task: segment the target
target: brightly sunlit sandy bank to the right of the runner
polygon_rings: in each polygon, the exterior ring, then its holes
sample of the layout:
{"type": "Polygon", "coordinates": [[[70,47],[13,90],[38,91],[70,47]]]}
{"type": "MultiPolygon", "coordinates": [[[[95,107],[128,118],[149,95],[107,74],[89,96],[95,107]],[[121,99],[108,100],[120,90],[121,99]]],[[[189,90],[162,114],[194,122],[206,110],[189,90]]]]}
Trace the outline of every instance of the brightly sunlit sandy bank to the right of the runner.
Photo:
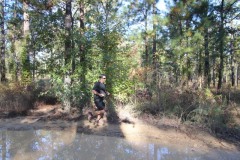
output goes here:
{"type": "MultiPolygon", "coordinates": [[[[132,108],[132,107],[127,107],[132,108]]],[[[234,144],[227,143],[217,139],[207,132],[185,128],[185,133],[180,132],[177,127],[154,126],[145,123],[142,120],[134,118],[131,111],[124,108],[118,110],[119,117],[128,119],[130,123],[121,123],[120,129],[128,141],[158,142],[163,145],[174,145],[177,148],[189,146],[192,150],[208,151],[209,147],[226,148],[229,150],[238,150],[234,144]]]]}

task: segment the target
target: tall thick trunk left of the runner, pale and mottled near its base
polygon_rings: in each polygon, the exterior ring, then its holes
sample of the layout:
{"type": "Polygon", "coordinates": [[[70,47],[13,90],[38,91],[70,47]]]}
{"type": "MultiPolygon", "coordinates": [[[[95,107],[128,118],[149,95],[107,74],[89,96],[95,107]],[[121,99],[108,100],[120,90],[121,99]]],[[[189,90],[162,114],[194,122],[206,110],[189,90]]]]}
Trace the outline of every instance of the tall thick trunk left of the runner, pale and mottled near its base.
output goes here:
{"type": "Polygon", "coordinates": [[[71,64],[71,55],[72,55],[72,27],[73,27],[73,18],[72,18],[72,0],[66,0],[66,13],[65,13],[65,30],[66,30],[66,38],[65,38],[65,68],[67,69],[64,77],[64,86],[65,86],[65,97],[64,97],[64,110],[66,112],[70,111],[71,108],[71,97],[69,97],[71,92],[71,74],[72,71],[69,68],[71,64]]]}

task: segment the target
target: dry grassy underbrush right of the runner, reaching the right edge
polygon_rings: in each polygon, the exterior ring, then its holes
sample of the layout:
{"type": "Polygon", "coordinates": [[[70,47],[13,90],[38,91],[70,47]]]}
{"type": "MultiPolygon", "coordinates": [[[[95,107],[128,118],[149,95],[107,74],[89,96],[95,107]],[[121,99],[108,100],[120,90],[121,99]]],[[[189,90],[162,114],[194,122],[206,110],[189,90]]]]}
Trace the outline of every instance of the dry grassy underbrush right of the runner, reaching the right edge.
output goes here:
{"type": "MultiPolygon", "coordinates": [[[[140,92],[140,91],[138,91],[140,92]]],[[[142,91],[145,92],[145,91],[142,91]]],[[[208,128],[219,135],[240,139],[239,91],[218,94],[210,89],[191,90],[162,86],[158,91],[136,94],[135,111],[177,119],[184,124],[208,128]],[[148,95],[148,96],[146,96],[148,95]]]]}

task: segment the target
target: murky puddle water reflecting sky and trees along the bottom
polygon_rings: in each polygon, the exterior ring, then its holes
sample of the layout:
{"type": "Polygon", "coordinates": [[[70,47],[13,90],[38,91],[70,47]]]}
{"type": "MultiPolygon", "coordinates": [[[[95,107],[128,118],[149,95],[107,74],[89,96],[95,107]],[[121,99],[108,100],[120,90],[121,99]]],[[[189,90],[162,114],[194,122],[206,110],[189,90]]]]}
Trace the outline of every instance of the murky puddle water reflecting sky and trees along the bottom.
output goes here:
{"type": "Polygon", "coordinates": [[[0,159],[14,160],[173,160],[238,159],[239,153],[212,151],[205,154],[190,148],[142,143],[134,139],[76,134],[66,130],[0,131],[0,159]]]}

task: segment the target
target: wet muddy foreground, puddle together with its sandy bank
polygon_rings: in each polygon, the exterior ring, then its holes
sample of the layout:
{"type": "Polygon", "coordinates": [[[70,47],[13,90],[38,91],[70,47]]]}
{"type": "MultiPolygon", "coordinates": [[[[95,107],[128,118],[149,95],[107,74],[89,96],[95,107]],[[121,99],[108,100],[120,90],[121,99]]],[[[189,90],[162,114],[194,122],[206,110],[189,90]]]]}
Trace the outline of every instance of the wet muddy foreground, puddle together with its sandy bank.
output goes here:
{"type": "Polygon", "coordinates": [[[202,141],[190,139],[140,122],[95,126],[86,120],[2,119],[0,159],[239,159],[234,145],[209,135],[202,137],[202,141]]]}

